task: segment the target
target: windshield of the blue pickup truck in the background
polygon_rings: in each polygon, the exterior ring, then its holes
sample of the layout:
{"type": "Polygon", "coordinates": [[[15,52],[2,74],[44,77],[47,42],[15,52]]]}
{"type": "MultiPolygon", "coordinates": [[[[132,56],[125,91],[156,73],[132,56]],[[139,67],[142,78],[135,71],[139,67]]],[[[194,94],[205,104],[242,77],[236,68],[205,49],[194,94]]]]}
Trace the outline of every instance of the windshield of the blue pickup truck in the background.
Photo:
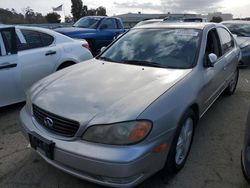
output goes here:
{"type": "Polygon", "coordinates": [[[96,29],[100,20],[101,18],[98,17],[81,18],[73,25],[73,27],[96,29]]]}

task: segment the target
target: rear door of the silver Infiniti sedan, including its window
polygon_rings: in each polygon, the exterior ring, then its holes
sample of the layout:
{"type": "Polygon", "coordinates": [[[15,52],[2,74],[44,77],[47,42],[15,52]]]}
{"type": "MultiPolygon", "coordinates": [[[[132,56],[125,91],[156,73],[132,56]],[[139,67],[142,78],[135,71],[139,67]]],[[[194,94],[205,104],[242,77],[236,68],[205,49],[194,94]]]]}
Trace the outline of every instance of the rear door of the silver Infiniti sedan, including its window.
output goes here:
{"type": "Polygon", "coordinates": [[[240,51],[235,48],[233,36],[223,27],[217,28],[218,35],[222,46],[222,54],[225,59],[224,73],[226,80],[229,82],[236,71],[240,51]]]}

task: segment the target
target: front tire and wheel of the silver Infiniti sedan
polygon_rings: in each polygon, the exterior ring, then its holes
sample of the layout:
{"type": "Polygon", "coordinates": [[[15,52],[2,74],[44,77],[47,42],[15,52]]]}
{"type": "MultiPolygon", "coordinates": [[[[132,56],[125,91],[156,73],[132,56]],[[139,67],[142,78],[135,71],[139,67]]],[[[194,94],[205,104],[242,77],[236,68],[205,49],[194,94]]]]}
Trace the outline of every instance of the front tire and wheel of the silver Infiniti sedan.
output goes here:
{"type": "Polygon", "coordinates": [[[163,169],[164,175],[175,175],[185,165],[193,142],[197,118],[193,110],[187,110],[180,120],[168,158],[163,169]]]}

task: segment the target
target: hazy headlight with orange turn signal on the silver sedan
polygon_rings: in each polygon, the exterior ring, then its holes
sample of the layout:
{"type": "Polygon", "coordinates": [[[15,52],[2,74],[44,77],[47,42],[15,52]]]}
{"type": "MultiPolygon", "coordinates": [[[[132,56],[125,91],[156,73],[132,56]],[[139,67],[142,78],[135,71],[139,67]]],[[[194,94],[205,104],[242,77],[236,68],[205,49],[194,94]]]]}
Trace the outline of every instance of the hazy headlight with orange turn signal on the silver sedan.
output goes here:
{"type": "Polygon", "coordinates": [[[131,121],[109,125],[93,125],[83,134],[82,139],[111,145],[129,145],[142,141],[152,128],[150,121],[131,121]]]}

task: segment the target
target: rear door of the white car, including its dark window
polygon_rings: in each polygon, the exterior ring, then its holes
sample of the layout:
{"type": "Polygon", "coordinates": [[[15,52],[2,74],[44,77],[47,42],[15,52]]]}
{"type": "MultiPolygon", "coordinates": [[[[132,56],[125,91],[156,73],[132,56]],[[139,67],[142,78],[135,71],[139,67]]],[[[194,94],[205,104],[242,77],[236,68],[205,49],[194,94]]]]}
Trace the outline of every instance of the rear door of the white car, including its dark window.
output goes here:
{"type": "Polygon", "coordinates": [[[21,84],[23,90],[55,70],[59,50],[55,38],[32,29],[19,29],[18,58],[21,64],[21,84]]]}

